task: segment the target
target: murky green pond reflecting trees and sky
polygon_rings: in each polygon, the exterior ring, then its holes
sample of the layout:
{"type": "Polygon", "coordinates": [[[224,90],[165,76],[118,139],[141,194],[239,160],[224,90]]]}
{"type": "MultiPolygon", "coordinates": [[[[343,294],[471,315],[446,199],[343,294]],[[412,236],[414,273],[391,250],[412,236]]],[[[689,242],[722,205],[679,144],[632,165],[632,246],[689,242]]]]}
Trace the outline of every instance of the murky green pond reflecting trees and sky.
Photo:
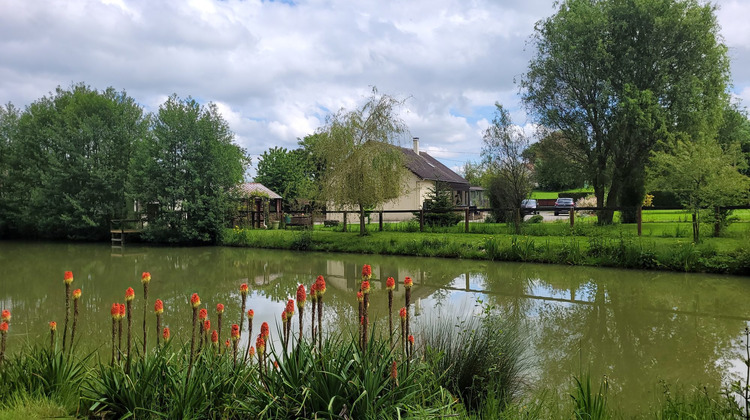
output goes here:
{"type": "MultiPolygon", "coordinates": [[[[300,253],[244,248],[168,248],[107,244],[0,241],[0,308],[13,314],[9,351],[45,343],[48,322],[64,320],[63,272],[81,288],[79,347],[109,355],[110,306],[136,290],[134,336],[143,319],[141,273],[151,273],[147,326],[155,341],[153,302],[164,301],[164,324],[187,341],[198,293],[215,319],[226,305],[224,336],[239,321],[239,285],[250,285],[247,307],[277,331],[279,314],[297,285],[326,278],[325,330],[342,331],[356,319],[355,288],[363,264],[373,268],[371,318],[387,330],[385,279],[399,281],[394,311],[403,305],[405,276],[414,279],[416,324],[437,317],[497,307],[528,337],[530,382],[565,393],[573,374],[607,375],[611,400],[638,412],[669,384],[718,386],[743,373],[742,331],[750,320],[748,278],[625,271],[556,265],[493,263],[433,258],[300,253]]],[[[394,314],[397,317],[397,314],[394,314]]],[[[295,315],[295,325],[296,325],[295,315]]],[[[397,319],[397,318],[395,318],[397,319]]],[[[293,326],[292,331],[297,327],[293,326]]],[[[243,334],[243,345],[247,334],[243,334]]]]}

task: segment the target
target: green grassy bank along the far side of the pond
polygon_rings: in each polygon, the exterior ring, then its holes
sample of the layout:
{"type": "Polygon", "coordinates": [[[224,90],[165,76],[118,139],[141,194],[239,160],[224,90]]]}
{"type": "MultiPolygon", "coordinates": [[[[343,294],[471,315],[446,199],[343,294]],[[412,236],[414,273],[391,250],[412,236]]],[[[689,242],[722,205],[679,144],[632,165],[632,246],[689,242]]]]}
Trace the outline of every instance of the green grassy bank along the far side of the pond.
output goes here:
{"type": "Polygon", "coordinates": [[[374,225],[364,237],[330,228],[235,228],[226,230],[224,244],[750,275],[750,242],[743,232],[732,237],[706,238],[695,245],[683,236],[637,237],[630,232],[635,229],[630,225],[600,227],[580,223],[570,228],[565,223],[530,224],[524,227],[524,235],[505,233],[508,228],[504,225],[485,223],[472,224],[472,232],[477,233],[468,234],[459,233],[458,228],[411,232],[410,223],[399,225],[405,231],[378,232],[374,225]]]}

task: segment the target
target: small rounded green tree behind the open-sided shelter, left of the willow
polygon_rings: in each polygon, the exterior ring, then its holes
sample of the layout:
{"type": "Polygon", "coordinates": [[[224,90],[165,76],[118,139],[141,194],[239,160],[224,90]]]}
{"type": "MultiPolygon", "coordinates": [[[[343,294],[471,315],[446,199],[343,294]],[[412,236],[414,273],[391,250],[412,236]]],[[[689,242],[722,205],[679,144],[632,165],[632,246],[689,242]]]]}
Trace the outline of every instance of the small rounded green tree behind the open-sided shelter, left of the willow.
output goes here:
{"type": "Polygon", "coordinates": [[[285,206],[299,198],[312,198],[312,165],[302,149],[272,147],[258,160],[255,181],[284,197],[285,206]]]}

